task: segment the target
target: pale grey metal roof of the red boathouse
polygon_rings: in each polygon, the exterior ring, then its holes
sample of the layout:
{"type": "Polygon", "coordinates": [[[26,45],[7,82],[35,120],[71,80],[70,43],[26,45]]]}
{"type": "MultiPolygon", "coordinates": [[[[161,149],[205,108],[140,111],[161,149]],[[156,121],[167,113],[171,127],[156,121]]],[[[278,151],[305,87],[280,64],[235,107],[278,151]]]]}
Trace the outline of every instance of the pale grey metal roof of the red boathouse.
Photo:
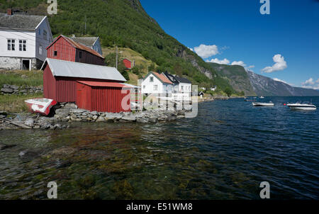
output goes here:
{"type": "Polygon", "coordinates": [[[51,72],[55,77],[79,77],[126,81],[115,67],[47,58],[41,69],[45,68],[45,64],[50,66],[51,72]]]}

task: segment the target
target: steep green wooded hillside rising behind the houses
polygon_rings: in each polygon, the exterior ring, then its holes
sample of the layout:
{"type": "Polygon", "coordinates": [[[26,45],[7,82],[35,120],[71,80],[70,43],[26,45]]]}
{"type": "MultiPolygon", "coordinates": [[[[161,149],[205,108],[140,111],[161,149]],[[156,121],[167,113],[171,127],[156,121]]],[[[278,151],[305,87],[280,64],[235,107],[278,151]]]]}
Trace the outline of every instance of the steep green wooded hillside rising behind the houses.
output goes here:
{"type": "MultiPolygon", "coordinates": [[[[0,10],[11,7],[29,14],[46,15],[44,0],[0,0],[0,10]]],[[[231,86],[201,57],[179,43],[147,15],[138,0],[57,0],[58,14],[49,16],[52,33],[98,35],[103,47],[128,47],[161,72],[179,74],[199,86],[231,86]],[[84,28],[86,22],[86,29],[84,28]]]]}

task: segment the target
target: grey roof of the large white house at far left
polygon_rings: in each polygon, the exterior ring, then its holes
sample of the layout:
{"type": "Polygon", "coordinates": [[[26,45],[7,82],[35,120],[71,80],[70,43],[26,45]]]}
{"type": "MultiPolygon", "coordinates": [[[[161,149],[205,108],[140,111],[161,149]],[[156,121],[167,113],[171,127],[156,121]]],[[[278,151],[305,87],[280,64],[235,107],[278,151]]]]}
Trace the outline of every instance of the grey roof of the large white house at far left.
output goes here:
{"type": "Polygon", "coordinates": [[[6,13],[0,13],[0,28],[35,30],[38,24],[43,21],[43,18],[45,18],[45,16],[28,16],[22,14],[8,16],[6,13]]]}

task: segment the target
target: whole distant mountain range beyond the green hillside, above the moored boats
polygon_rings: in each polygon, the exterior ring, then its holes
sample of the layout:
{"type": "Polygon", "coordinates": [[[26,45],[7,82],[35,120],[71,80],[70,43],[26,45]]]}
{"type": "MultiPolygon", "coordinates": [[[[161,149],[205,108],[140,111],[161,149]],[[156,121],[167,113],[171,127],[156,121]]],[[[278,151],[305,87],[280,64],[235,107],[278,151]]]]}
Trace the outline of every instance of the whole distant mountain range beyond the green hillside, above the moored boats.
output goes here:
{"type": "Polygon", "coordinates": [[[293,87],[282,81],[247,72],[240,65],[207,63],[227,79],[233,89],[244,91],[245,96],[319,96],[318,90],[293,87]]]}

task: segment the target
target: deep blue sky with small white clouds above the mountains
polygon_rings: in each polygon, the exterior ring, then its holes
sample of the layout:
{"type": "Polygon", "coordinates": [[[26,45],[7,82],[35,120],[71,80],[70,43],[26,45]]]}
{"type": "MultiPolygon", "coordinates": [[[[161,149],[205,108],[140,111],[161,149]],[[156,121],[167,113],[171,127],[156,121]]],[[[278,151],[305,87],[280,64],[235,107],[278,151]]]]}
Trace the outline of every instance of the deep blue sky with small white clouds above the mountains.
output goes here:
{"type": "Polygon", "coordinates": [[[244,64],[257,74],[319,89],[317,0],[269,0],[269,15],[259,12],[260,0],[140,1],[166,33],[205,61],[244,64]]]}

